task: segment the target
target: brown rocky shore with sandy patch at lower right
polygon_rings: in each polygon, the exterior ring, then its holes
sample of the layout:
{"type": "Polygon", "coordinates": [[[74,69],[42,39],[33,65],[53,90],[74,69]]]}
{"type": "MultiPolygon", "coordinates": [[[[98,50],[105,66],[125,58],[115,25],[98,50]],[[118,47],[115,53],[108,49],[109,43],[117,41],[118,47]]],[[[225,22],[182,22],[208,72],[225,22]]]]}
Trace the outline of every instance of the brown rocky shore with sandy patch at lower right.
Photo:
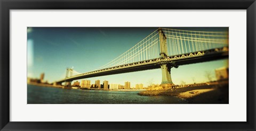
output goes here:
{"type": "Polygon", "coordinates": [[[138,95],[167,95],[186,99],[188,103],[228,103],[228,84],[204,85],[187,88],[147,90],[138,95]]]}

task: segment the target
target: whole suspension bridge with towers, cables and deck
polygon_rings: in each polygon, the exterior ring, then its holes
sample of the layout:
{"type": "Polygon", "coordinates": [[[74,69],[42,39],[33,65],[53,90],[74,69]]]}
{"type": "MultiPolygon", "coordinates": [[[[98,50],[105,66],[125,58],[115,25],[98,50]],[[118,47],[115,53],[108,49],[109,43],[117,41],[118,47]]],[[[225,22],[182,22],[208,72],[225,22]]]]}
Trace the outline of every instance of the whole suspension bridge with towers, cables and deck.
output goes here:
{"type": "Polygon", "coordinates": [[[228,58],[228,36],[228,31],[158,28],[125,53],[94,71],[78,73],[73,68],[67,68],[66,77],[55,84],[66,82],[70,85],[72,81],[82,78],[161,68],[161,84],[171,86],[172,67],[228,58]]]}

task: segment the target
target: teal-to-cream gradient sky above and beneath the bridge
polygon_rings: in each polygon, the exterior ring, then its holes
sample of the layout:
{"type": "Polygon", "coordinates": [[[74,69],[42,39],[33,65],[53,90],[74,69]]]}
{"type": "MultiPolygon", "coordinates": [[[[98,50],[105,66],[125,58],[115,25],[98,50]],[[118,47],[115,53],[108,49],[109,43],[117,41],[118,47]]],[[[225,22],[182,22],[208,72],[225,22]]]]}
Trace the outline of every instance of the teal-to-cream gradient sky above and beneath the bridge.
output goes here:
{"type": "MultiPolygon", "coordinates": [[[[157,30],[155,28],[104,28],[104,27],[28,27],[27,29],[27,76],[54,82],[65,78],[66,69],[74,68],[79,73],[93,71],[107,64],[139,41],[157,30]]],[[[227,31],[228,28],[171,28],[194,31],[227,31]]],[[[215,60],[171,69],[174,84],[206,82],[205,72],[227,66],[228,60],[215,60]]],[[[130,81],[131,86],[142,83],[161,84],[160,68],[140,72],[86,78],[94,84],[95,80],[122,84],[130,81]]],[[[81,80],[78,80],[81,81],[81,80]]]]}

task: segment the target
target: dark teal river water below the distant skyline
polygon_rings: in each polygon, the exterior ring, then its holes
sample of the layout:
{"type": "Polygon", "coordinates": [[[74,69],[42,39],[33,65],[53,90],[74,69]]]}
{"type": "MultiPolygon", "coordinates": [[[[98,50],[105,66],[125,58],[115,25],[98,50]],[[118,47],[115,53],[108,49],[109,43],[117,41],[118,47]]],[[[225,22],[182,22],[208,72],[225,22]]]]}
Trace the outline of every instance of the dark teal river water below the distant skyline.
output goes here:
{"type": "Polygon", "coordinates": [[[172,96],[140,96],[139,91],[99,91],[28,85],[28,104],[177,104],[187,101],[172,96]]]}

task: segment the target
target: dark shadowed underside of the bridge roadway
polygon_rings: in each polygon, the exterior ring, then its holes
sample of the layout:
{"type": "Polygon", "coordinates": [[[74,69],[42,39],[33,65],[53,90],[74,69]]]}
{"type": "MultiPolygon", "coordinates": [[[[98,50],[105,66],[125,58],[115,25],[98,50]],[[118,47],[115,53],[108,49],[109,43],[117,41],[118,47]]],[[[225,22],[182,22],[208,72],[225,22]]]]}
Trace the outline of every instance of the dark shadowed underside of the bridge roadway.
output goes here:
{"type": "MultiPolygon", "coordinates": [[[[225,58],[228,58],[228,51],[222,51],[220,53],[207,54],[207,55],[202,55],[202,56],[197,56],[197,57],[189,57],[189,58],[183,58],[183,59],[170,60],[170,62],[171,61],[175,62],[176,65],[180,66],[180,65],[187,65],[187,64],[209,62],[212,60],[225,59],[225,58]]],[[[126,67],[126,68],[105,71],[105,72],[99,72],[99,73],[94,73],[94,74],[81,75],[81,76],[77,76],[77,77],[73,77],[73,78],[67,78],[66,80],[57,81],[57,83],[60,84],[62,82],[70,82],[70,81],[79,80],[82,78],[90,78],[90,77],[114,75],[114,74],[121,74],[121,73],[128,73],[128,72],[145,71],[147,69],[156,69],[156,68],[160,68],[160,67],[161,66],[156,63],[140,65],[140,66],[131,66],[131,67],[126,67]]]]}

